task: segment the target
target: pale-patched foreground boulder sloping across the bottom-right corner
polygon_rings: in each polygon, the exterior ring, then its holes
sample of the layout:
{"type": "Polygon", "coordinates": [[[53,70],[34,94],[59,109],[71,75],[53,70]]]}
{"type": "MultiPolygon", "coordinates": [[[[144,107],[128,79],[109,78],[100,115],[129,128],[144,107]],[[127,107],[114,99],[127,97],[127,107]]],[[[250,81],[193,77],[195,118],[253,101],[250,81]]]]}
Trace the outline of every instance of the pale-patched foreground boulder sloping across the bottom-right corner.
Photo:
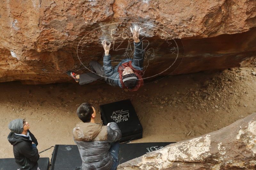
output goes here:
{"type": "Polygon", "coordinates": [[[255,156],[256,113],[252,113],[218,131],[168,145],[117,169],[255,169],[255,156]]]}

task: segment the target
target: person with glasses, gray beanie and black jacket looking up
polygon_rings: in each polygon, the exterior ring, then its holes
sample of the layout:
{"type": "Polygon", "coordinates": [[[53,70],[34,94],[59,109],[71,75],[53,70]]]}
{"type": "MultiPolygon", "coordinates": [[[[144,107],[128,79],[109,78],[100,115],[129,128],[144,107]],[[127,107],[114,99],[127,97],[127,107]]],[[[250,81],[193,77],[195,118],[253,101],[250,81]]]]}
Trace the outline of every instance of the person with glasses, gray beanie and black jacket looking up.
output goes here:
{"type": "Polygon", "coordinates": [[[28,130],[30,125],[24,119],[15,119],[8,124],[11,130],[7,139],[13,145],[15,162],[20,170],[37,170],[39,153],[35,136],[28,130]]]}

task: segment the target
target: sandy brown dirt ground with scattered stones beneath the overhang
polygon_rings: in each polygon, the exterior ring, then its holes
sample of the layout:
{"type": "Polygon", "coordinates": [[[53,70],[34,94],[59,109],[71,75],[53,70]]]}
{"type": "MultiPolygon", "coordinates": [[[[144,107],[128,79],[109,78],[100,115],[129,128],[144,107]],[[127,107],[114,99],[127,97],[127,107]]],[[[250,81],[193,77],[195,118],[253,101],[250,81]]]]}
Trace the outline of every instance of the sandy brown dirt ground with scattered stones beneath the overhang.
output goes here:
{"type": "MultiPolygon", "coordinates": [[[[256,111],[256,67],[232,68],[165,77],[125,92],[105,83],[22,85],[0,83],[0,158],[13,158],[8,123],[25,118],[39,143],[39,152],[56,144],[75,145],[72,129],[84,102],[100,104],[131,99],[143,127],[137,142],[176,142],[223,128],[256,111]],[[189,135],[188,135],[189,134],[189,135]]],[[[53,148],[40,154],[52,157],[53,148]]]]}

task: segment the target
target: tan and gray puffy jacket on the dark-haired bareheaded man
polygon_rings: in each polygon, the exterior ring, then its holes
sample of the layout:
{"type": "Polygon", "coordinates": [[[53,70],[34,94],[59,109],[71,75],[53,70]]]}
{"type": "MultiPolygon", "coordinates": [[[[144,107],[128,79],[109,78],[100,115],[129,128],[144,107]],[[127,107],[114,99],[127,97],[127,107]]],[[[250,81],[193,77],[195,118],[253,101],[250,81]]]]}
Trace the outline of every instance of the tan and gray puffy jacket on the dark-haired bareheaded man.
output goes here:
{"type": "Polygon", "coordinates": [[[113,157],[109,153],[110,143],[121,139],[121,131],[117,124],[109,126],[95,123],[78,123],[73,129],[74,141],[83,161],[83,170],[109,170],[113,157]]]}

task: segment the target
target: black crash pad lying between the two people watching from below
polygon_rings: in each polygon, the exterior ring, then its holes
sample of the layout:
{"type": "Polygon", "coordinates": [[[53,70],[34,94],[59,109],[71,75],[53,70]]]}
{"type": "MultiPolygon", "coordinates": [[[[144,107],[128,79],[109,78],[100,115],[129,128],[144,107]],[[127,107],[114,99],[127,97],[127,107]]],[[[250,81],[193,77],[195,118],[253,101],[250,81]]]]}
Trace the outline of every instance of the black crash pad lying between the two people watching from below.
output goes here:
{"type": "Polygon", "coordinates": [[[74,170],[82,165],[77,145],[55,145],[50,170],[74,170]]]}

